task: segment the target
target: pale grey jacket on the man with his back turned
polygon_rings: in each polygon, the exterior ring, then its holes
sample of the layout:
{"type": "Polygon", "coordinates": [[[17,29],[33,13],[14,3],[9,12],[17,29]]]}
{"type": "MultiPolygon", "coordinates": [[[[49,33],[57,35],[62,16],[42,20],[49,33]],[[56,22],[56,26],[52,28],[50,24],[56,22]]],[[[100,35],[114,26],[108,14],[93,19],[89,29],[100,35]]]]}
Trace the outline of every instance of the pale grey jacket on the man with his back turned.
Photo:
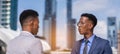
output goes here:
{"type": "Polygon", "coordinates": [[[6,54],[42,54],[42,51],[40,39],[35,38],[30,32],[22,31],[8,43],[6,54]]]}

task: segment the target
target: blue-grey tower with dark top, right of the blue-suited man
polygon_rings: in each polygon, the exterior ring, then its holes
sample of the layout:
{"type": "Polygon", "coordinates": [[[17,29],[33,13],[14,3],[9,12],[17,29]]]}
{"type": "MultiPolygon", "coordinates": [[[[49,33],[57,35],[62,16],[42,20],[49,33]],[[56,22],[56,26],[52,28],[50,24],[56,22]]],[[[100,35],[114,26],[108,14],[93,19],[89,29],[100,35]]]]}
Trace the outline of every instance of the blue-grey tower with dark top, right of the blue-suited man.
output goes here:
{"type": "Polygon", "coordinates": [[[110,42],[111,47],[117,48],[117,25],[116,25],[116,17],[108,17],[107,21],[108,27],[108,40],[110,42]]]}

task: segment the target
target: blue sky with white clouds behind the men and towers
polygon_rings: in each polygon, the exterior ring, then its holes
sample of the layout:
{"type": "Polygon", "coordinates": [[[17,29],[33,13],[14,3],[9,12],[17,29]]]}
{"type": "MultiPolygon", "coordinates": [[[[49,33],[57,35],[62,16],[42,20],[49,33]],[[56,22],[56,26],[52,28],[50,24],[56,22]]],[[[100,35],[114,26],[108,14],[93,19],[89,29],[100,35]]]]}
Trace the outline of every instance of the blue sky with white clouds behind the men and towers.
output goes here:
{"type": "MultiPolygon", "coordinates": [[[[67,39],[66,25],[66,2],[67,0],[57,0],[57,46],[61,46],[67,39]]],[[[92,13],[98,19],[98,24],[94,29],[94,34],[107,39],[107,17],[116,17],[117,24],[120,21],[120,0],[72,0],[72,18],[79,21],[82,13],[92,13]]],[[[38,35],[42,36],[42,22],[45,12],[45,0],[18,0],[18,18],[25,9],[33,9],[39,13],[40,29],[38,35]]],[[[118,26],[118,25],[117,25],[118,26]]],[[[21,29],[19,21],[18,28],[21,29]]],[[[76,26],[77,40],[83,36],[79,34],[76,26]]],[[[66,47],[66,45],[62,45],[66,47]]]]}

